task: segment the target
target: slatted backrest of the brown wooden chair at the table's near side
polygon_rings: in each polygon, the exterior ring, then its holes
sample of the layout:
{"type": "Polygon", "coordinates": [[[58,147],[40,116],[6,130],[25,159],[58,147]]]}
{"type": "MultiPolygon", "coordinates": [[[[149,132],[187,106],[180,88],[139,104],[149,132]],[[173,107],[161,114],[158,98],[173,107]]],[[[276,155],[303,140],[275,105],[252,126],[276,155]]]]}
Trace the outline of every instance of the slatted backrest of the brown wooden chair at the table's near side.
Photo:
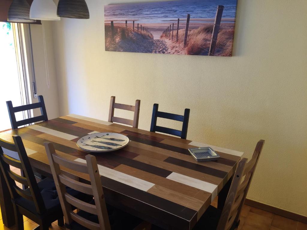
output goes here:
{"type": "Polygon", "coordinates": [[[80,163],[65,159],[56,154],[52,143],[45,142],[45,148],[54,182],[56,184],[56,190],[58,192],[60,203],[63,209],[66,227],[70,228],[70,225],[74,220],[78,224],[81,224],[82,226],[91,230],[111,229],[95,156],[87,155],[85,157],[87,163],[80,163]],[[79,182],[63,174],[63,172],[60,170],[60,166],[66,167],[76,172],[89,174],[91,185],[79,182]],[[66,192],[65,186],[94,196],[95,204],[89,204],[71,196],[66,192]],[[71,205],[87,213],[97,215],[99,224],[87,220],[74,213],[72,211],[71,205]]]}

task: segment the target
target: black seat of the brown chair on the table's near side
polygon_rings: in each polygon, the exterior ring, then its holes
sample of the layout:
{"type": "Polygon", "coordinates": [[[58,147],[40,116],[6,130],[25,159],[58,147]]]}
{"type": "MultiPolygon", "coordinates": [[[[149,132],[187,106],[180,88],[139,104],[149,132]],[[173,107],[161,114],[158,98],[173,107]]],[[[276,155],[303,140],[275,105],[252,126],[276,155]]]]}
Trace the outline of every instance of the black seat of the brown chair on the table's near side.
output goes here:
{"type": "MultiPolygon", "coordinates": [[[[91,201],[90,204],[95,205],[95,201],[91,201]]],[[[108,216],[110,220],[110,225],[112,230],[129,230],[129,229],[134,229],[137,227],[139,224],[142,223],[143,220],[134,217],[130,215],[129,213],[123,212],[119,209],[116,209],[110,205],[107,205],[107,211],[108,211],[108,216]]],[[[77,213],[81,217],[90,220],[95,223],[99,223],[98,216],[87,213],[85,211],[80,211],[77,213]]],[[[87,230],[88,228],[85,228],[84,226],[78,224],[77,222],[73,221],[71,224],[72,230],[87,230]]]]}

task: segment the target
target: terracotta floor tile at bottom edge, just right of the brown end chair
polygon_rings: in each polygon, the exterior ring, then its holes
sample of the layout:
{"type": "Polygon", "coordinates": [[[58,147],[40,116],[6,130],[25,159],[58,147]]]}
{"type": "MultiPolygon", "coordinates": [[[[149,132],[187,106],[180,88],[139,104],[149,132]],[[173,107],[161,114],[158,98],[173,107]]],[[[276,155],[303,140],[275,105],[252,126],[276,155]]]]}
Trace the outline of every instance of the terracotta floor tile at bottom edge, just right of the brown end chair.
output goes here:
{"type": "Polygon", "coordinates": [[[269,230],[271,222],[272,219],[268,217],[249,212],[245,219],[243,229],[269,230]]]}

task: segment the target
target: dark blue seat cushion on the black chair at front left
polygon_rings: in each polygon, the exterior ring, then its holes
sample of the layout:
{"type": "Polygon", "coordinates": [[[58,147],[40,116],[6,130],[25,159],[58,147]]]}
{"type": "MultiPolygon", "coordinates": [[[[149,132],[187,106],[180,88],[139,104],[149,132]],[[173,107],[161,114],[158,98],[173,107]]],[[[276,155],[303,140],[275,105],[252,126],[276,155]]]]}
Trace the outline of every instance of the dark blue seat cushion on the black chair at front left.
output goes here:
{"type": "MultiPolygon", "coordinates": [[[[44,214],[48,215],[48,213],[54,213],[54,212],[62,213],[60,200],[59,200],[59,197],[56,191],[56,185],[54,181],[50,178],[45,178],[41,182],[38,182],[37,185],[41,192],[41,196],[43,197],[45,207],[46,207],[46,213],[44,214]]],[[[30,194],[29,188],[26,190],[29,191],[29,194],[30,194]]],[[[90,199],[90,197],[88,197],[86,194],[81,193],[79,191],[73,190],[68,187],[66,187],[66,190],[70,195],[80,200],[89,201],[90,199]]],[[[15,199],[15,202],[17,205],[25,209],[28,209],[30,212],[37,213],[37,210],[35,208],[33,201],[27,200],[23,197],[18,197],[17,199],[15,199]]]]}

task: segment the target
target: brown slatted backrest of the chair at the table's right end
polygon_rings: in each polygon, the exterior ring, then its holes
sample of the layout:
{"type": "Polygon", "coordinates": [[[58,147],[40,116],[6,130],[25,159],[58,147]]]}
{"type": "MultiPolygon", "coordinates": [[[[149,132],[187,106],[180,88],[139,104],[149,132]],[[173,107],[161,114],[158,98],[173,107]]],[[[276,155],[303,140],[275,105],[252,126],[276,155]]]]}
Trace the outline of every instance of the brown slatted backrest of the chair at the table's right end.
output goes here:
{"type": "Polygon", "coordinates": [[[247,159],[243,158],[239,162],[217,230],[229,230],[234,222],[238,223],[263,145],[264,140],[260,140],[256,145],[252,159],[247,162],[247,159]]]}

